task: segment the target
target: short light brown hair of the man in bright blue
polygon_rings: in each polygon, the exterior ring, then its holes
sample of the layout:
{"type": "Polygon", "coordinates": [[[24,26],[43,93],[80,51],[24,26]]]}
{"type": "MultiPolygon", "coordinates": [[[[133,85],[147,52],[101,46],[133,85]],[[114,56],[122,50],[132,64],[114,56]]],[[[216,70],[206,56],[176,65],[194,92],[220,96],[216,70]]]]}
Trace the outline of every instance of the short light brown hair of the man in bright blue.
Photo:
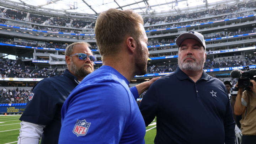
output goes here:
{"type": "Polygon", "coordinates": [[[142,37],[143,18],[133,10],[109,9],[101,12],[95,24],[95,37],[102,57],[119,52],[127,36],[138,42],[142,37]]]}

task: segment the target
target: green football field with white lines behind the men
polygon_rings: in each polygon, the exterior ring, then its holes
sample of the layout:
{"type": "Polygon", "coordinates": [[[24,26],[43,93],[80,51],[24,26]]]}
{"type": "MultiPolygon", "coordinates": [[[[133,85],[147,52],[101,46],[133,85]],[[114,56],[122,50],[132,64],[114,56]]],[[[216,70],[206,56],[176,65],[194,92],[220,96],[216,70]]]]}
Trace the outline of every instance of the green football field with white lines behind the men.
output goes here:
{"type": "MultiPolygon", "coordinates": [[[[0,144],[15,144],[17,143],[20,121],[20,115],[0,115],[0,144]]],[[[154,144],[156,135],[156,121],[151,123],[151,126],[146,127],[145,143],[154,144]]]]}

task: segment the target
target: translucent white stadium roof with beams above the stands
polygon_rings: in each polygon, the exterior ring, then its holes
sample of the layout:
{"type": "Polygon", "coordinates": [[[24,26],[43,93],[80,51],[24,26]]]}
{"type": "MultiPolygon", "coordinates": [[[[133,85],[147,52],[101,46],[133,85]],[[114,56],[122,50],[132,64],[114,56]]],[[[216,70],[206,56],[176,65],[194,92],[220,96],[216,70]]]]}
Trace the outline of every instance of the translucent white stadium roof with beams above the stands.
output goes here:
{"type": "MultiPolygon", "coordinates": [[[[215,3],[223,0],[4,0],[34,9],[51,9],[81,14],[99,14],[110,8],[133,9],[138,13],[162,12],[215,3]]],[[[235,0],[234,0],[235,1],[235,0]]]]}

